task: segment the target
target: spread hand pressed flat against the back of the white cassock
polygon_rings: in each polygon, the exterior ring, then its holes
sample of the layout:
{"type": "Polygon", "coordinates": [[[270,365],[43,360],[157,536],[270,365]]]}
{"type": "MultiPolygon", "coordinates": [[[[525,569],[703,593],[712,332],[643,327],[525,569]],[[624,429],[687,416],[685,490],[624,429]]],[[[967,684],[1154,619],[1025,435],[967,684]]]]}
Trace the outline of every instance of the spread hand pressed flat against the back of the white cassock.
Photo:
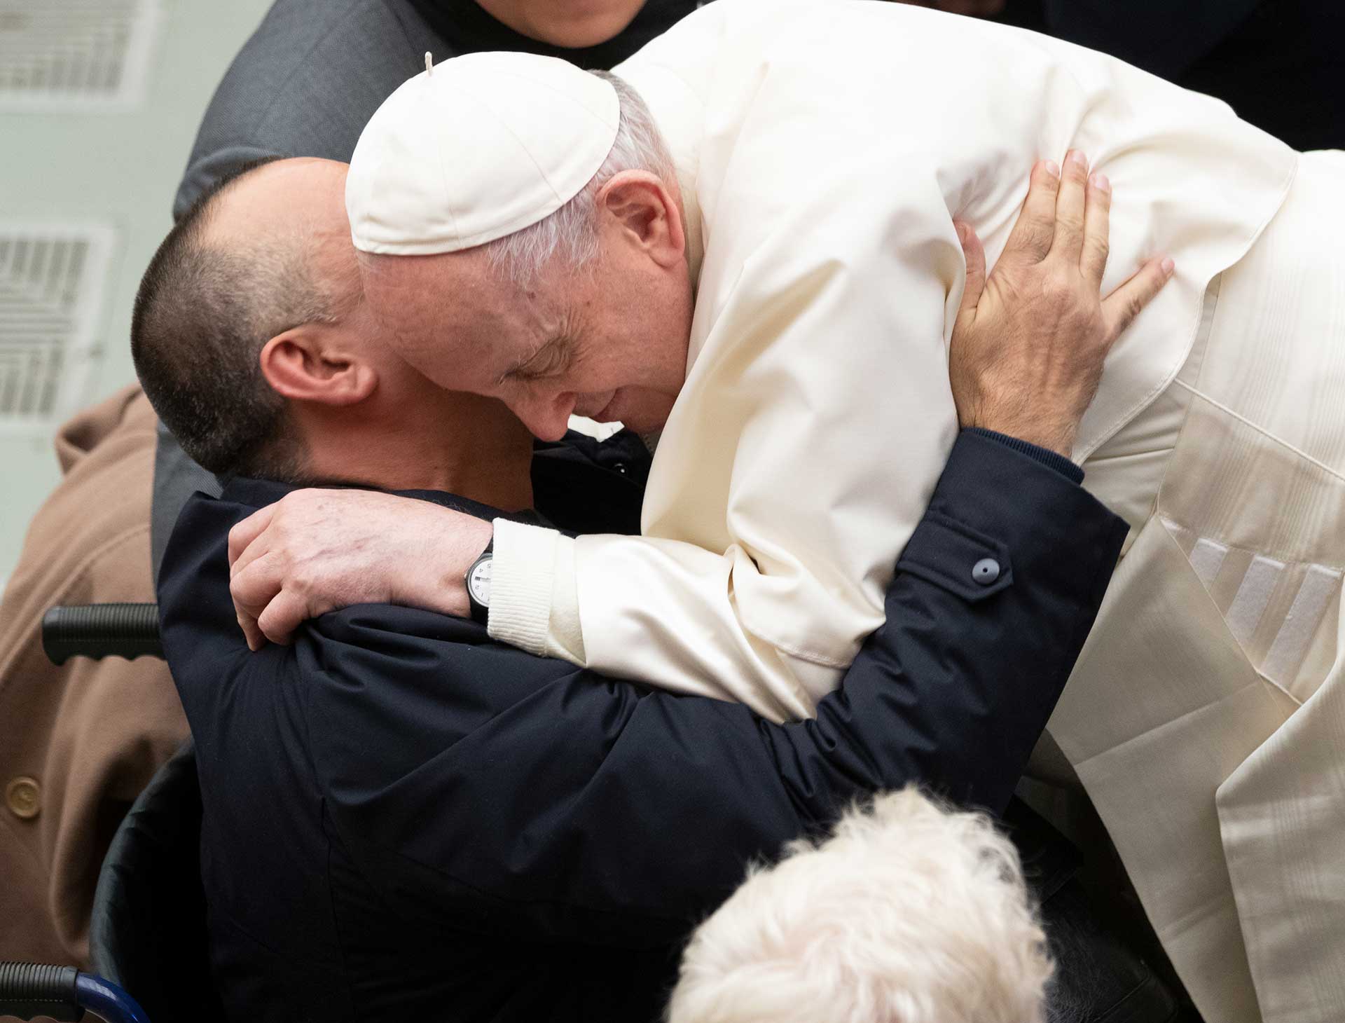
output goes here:
{"type": "Polygon", "coordinates": [[[986,253],[958,223],[967,289],[948,376],[958,419],[1069,458],[1103,361],[1162,291],[1173,262],[1153,258],[1102,299],[1111,186],[1075,151],[1063,172],[1038,163],[1009,244],[986,279],[986,253]]]}

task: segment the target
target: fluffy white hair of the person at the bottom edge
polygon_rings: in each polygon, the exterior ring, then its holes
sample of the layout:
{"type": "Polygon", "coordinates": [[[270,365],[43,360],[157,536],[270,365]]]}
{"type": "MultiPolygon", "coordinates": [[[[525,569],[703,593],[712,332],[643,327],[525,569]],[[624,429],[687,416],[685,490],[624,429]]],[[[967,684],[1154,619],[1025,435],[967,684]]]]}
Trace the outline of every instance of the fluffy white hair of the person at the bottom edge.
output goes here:
{"type": "Polygon", "coordinates": [[[1040,1023],[1050,973],[1013,844],[907,787],[753,868],[691,937],[667,1023],[1040,1023]]]}

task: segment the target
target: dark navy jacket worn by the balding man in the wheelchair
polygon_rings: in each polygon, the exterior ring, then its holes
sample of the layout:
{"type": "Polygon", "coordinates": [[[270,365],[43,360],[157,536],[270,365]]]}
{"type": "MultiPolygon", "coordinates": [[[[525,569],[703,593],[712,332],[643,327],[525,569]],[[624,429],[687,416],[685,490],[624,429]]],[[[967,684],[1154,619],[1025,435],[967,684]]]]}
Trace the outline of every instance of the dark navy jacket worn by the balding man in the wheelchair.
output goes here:
{"type": "MultiPolygon", "coordinates": [[[[751,860],[912,781],[1005,806],[1126,533],[1061,474],[964,433],[886,625],[816,720],[773,726],[405,607],[250,654],[227,533],[288,490],[192,498],[160,576],[237,1020],[656,1019],[679,942],[751,860]],[[971,579],[982,557],[1002,565],[991,587],[971,579]]],[[[539,509],[574,518],[546,490],[539,509]]]]}

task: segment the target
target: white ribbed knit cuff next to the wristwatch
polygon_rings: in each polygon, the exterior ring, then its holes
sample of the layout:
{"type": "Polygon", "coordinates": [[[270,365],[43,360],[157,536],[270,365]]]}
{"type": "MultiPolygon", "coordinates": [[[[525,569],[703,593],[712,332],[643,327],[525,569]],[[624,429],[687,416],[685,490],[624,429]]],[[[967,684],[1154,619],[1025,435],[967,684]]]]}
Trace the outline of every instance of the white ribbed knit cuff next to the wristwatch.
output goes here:
{"type": "MultiPolygon", "coordinates": [[[[495,557],[491,564],[491,639],[542,656],[551,621],[555,573],[554,529],[495,520],[495,557]]],[[[573,541],[569,541],[573,542],[573,541]]]]}

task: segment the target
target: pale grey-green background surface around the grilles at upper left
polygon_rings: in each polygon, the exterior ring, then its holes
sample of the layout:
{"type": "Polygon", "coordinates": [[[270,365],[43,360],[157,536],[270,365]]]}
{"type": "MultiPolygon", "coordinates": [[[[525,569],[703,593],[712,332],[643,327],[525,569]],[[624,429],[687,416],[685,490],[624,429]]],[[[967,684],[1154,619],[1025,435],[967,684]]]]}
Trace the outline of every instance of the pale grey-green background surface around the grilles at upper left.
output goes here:
{"type": "MultiPolygon", "coordinates": [[[[44,5],[55,0],[0,0],[0,44],[44,5]]],[[[75,407],[134,380],[128,338],[136,285],[172,225],[172,197],[206,104],[269,5],[156,0],[160,16],[141,100],[98,113],[0,112],[0,223],[102,222],[112,229],[112,257],[91,311],[94,353],[75,407]]],[[[4,330],[0,324],[0,346],[4,330]]],[[[28,521],[59,481],[52,433],[50,427],[0,431],[0,586],[17,561],[28,521]]]]}

